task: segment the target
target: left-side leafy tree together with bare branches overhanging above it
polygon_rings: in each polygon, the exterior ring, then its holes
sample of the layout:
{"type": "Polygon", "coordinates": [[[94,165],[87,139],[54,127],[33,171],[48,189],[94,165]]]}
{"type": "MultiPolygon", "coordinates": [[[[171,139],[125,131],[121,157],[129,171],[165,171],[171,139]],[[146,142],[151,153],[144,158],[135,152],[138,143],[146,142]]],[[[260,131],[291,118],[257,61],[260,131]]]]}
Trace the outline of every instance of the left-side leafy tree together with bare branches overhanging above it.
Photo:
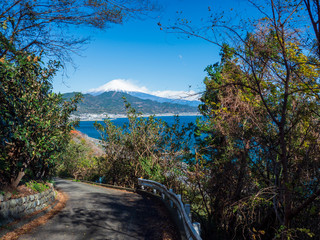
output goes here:
{"type": "Polygon", "coordinates": [[[65,101],[51,81],[86,38],[70,26],[99,29],[153,9],[143,0],[0,2],[0,188],[50,177],[65,152],[80,96],[65,101]]]}

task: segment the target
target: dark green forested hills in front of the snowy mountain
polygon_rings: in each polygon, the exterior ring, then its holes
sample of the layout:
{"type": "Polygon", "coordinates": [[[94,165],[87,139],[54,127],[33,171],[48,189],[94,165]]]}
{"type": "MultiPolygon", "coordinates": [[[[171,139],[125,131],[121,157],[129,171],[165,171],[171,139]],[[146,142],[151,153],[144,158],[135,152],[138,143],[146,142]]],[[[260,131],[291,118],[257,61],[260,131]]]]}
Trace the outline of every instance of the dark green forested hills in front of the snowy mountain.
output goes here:
{"type": "MultiPolygon", "coordinates": [[[[69,99],[76,93],[65,93],[63,97],[69,99]]],[[[181,114],[181,113],[196,113],[196,107],[175,104],[175,103],[160,103],[148,99],[141,99],[131,96],[123,92],[104,92],[100,95],[93,96],[91,94],[84,94],[83,101],[78,105],[76,114],[125,114],[125,106],[122,97],[137,111],[143,114],[181,114]]]]}

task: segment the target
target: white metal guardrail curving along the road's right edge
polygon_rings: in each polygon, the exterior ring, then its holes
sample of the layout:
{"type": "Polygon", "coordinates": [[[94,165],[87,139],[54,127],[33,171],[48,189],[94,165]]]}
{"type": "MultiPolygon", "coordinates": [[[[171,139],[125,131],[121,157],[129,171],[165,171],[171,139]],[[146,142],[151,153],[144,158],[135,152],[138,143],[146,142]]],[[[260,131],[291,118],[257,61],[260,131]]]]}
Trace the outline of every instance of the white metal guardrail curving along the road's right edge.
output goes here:
{"type": "Polygon", "coordinates": [[[144,190],[144,187],[150,187],[153,189],[153,193],[156,194],[157,191],[161,193],[163,200],[168,200],[170,207],[177,209],[179,219],[183,222],[184,231],[188,240],[202,240],[200,237],[200,223],[191,222],[190,204],[183,204],[181,201],[181,195],[175,194],[172,189],[168,190],[164,185],[152,181],[139,178],[138,184],[144,190]]]}

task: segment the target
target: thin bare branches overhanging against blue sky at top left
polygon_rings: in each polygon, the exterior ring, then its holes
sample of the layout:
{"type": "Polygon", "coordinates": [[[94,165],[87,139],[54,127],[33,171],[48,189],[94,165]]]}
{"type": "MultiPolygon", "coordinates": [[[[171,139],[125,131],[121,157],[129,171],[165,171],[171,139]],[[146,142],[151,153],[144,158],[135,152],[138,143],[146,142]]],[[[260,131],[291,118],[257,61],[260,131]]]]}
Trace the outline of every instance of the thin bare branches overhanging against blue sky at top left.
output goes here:
{"type": "Polygon", "coordinates": [[[149,0],[4,0],[0,9],[0,58],[44,51],[49,57],[69,60],[69,53],[77,53],[88,39],[75,38],[68,27],[104,29],[141,16],[154,5],[149,0]]]}

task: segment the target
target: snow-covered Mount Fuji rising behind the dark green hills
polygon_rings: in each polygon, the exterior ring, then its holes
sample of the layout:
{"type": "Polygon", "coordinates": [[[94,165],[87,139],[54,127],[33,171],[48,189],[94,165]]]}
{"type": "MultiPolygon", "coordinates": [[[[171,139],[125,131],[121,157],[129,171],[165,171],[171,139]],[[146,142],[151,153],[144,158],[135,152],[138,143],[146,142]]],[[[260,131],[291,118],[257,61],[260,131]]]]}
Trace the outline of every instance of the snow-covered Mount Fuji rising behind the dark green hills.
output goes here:
{"type": "Polygon", "coordinates": [[[126,79],[112,80],[98,88],[90,89],[85,93],[98,96],[105,92],[121,92],[143,100],[182,104],[192,107],[197,107],[200,103],[199,94],[194,91],[149,91],[146,87],[139,87],[126,79]]]}

